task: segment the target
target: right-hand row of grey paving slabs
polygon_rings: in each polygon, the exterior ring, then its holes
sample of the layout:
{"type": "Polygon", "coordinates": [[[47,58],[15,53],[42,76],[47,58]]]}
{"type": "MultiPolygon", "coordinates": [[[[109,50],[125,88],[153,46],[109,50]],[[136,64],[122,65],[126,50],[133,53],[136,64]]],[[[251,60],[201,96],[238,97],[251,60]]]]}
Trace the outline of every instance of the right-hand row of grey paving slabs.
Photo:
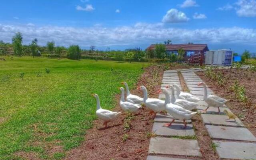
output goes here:
{"type": "MultiPolygon", "coordinates": [[[[200,98],[204,95],[203,88],[200,88],[192,83],[194,80],[203,82],[199,76],[195,74],[198,70],[190,69],[189,71],[181,71],[186,84],[191,94],[194,94],[200,98]]],[[[208,93],[213,94],[210,88],[207,88],[208,93]]],[[[198,106],[198,110],[206,109],[207,104],[204,103],[198,106]]],[[[231,112],[227,106],[220,108],[220,114],[218,114],[218,108],[210,107],[205,114],[201,114],[203,123],[216,144],[216,151],[220,158],[232,158],[232,159],[256,159],[256,138],[255,136],[245,128],[244,124],[236,118],[234,120],[227,120],[228,116],[223,110],[226,109],[231,112]]]]}

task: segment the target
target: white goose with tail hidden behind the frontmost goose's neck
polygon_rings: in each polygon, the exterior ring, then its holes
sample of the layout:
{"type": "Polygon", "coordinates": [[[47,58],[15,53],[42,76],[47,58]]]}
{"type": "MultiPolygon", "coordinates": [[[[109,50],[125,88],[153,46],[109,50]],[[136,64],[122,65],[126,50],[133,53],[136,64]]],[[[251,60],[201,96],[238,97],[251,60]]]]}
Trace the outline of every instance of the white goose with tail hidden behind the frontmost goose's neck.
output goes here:
{"type": "Polygon", "coordinates": [[[152,110],[155,113],[159,113],[165,110],[164,101],[157,99],[157,98],[148,98],[148,90],[145,86],[140,86],[137,89],[143,91],[144,98],[143,102],[145,103],[146,107],[152,110]]]}

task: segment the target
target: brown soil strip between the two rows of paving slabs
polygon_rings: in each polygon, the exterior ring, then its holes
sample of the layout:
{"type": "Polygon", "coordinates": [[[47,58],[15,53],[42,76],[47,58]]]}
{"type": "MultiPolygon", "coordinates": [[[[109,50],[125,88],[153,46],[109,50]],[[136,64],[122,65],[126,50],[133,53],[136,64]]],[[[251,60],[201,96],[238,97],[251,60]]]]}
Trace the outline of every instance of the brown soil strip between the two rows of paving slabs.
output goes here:
{"type": "MultiPolygon", "coordinates": [[[[178,72],[178,76],[183,92],[189,92],[188,86],[186,85],[186,81],[184,80],[181,72],[178,72]]],[[[202,122],[201,116],[196,115],[191,120],[196,133],[196,140],[198,141],[198,144],[200,146],[202,160],[220,160],[218,154],[213,150],[211,146],[212,140],[202,122]]]]}

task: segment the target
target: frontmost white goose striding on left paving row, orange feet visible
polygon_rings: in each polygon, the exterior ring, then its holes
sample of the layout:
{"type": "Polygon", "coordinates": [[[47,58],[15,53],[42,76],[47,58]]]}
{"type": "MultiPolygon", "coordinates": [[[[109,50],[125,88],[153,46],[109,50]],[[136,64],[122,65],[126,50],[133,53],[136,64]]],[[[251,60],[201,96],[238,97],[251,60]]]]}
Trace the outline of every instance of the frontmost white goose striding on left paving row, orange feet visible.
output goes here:
{"type": "MultiPolygon", "coordinates": [[[[170,95],[166,89],[162,89],[162,92],[165,94],[166,100],[170,100],[170,95]]],[[[172,123],[175,120],[183,120],[184,122],[184,128],[187,127],[186,120],[190,120],[192,116],[196,114],[196,112],[191,112],[189,110],[186,110],[185,108],[182,108],[179,105],[173,104],[173,103],[167,103],[165,106],[165,110],[172,115],[173,120],[172,122],[165,124],[164,126],[171,126],[172,123]]]]}

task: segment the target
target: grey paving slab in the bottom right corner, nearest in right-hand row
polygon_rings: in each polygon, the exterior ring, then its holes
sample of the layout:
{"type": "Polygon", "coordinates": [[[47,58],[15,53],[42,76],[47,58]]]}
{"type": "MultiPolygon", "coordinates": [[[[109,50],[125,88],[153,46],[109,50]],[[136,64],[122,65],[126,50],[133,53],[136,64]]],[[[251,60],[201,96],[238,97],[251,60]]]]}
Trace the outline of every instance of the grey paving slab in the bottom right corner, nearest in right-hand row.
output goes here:
{"type": "Polygon", "coordinates": [[[220,158],[255,160],[256,144],[244,142],[223,142],[214,140],[219,147],[216,148],[220,158]]]}

